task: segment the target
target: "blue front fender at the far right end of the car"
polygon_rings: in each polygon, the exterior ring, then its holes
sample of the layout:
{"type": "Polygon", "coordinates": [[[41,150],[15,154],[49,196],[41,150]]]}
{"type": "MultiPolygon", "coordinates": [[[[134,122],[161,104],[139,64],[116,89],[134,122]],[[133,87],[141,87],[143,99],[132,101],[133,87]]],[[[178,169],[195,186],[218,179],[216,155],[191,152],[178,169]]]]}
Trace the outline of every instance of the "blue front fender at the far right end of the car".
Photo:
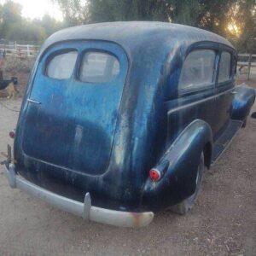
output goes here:
{"type": "Polygon", "coordinates": [[[255,101],[255,90],[247,86],[237,86],[235,91],[231,119],[244,121],[255,101]]]}

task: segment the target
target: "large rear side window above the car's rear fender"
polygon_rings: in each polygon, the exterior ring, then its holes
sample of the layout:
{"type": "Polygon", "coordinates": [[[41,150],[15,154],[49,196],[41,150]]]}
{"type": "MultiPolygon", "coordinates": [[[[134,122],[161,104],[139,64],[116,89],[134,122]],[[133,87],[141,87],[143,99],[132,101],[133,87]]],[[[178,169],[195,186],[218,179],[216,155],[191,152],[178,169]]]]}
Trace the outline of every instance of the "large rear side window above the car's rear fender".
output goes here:
{"type": "Polygon", "coordinates": [[[215,57],[212,49],[192,51],[183,63],[178,90],[183,93],[212,86],[215,57]]]}

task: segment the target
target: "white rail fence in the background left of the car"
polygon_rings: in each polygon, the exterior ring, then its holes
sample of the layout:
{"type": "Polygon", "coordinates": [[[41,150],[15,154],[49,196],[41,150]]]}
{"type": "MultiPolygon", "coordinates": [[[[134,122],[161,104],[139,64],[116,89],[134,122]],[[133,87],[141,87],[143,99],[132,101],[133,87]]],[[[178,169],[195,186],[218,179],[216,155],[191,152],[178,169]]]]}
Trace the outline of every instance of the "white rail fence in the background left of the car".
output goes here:
{"type": "Polygon", "coordinates": [[[39,49],[39,45],[32,44],[0,44],[0,50],[3,51],[5,55],[16,57],[35,57],[38,55],[39,49]]]}

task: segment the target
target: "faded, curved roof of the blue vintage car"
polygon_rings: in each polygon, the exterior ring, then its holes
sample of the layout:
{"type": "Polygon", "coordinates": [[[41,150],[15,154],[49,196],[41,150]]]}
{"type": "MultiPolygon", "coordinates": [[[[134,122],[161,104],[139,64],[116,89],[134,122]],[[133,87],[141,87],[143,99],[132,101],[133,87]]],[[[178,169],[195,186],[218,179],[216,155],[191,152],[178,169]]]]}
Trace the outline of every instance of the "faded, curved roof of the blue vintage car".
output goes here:
{"type": "Polygon", "coordinates": [[[42,51],[52,44],[70,40],[111,41],[121,45],[127,52],[145,47],[152,41],[159,45],[175,41],[187,46],[211,41],[234,48],[225,38],[192,26],[155,21],[119,21],[74,26],[55,32],[45,41],[42,51]]]}

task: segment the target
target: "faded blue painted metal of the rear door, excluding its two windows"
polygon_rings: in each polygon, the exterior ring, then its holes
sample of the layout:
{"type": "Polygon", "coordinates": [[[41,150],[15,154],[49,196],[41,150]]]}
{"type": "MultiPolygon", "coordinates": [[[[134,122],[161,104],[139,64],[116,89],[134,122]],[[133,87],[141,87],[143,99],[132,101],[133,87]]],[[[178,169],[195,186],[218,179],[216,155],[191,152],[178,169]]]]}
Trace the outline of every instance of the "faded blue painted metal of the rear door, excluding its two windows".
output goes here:
{"type": "Polygon", "coordinates": [[[30,93],[30,98],[41,104],[26,106],[22,137],[30,139],[23,140],[24,154],[74,172],[106,172],[127,70],[125,52],[116,44],[69,42],[48,49],[39,62],[30,93]],[[45,63],[60,49],[78,51],[78,63],[70,79],[45,75],[45,63]],[[84,83],[77,78],[80,58],[91,49],[118,56],[121,71],[111,84],[84,83]]]}

